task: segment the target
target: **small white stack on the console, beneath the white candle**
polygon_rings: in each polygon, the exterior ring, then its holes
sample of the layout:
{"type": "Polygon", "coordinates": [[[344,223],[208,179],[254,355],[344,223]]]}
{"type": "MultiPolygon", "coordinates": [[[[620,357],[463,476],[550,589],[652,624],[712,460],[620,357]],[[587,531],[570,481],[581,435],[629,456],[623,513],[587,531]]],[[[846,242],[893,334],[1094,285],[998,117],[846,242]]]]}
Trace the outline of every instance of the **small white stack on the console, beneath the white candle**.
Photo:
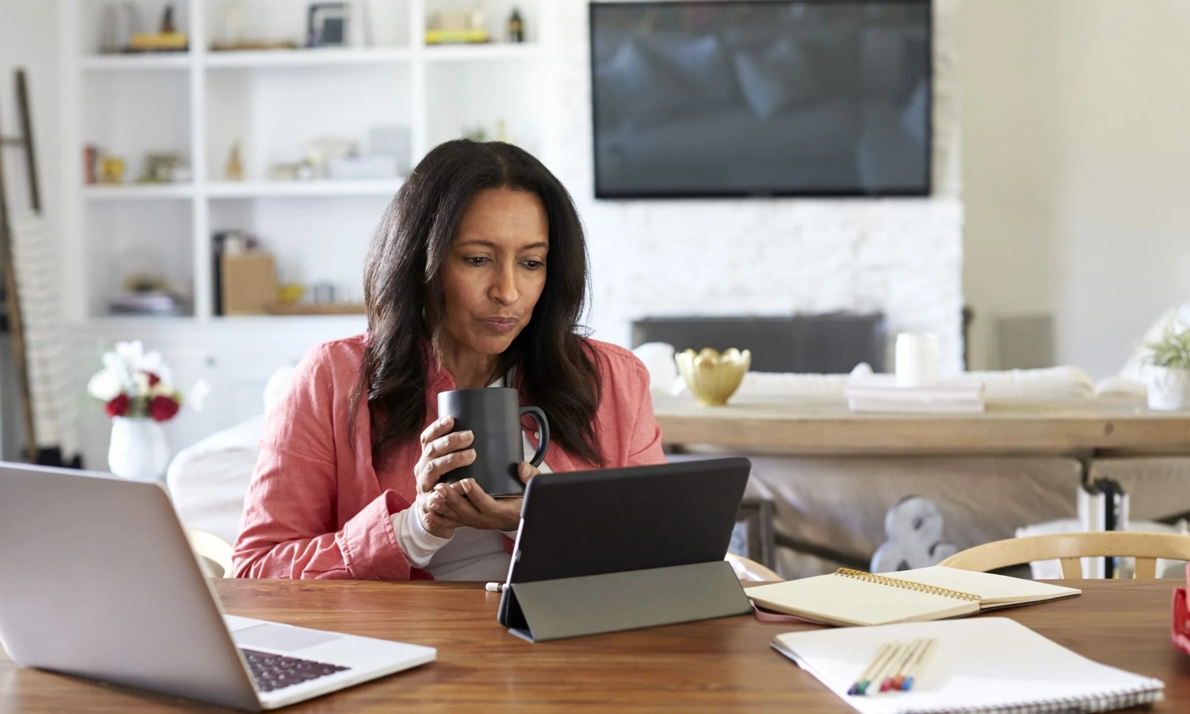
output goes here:
{"type": "Polygon", "coordinates": [[[983,382],[950,377],[925,387],[898,387],[895,375],[856,375],[844,392],[852,412],[966,414],[983,412],[983,382]]]}

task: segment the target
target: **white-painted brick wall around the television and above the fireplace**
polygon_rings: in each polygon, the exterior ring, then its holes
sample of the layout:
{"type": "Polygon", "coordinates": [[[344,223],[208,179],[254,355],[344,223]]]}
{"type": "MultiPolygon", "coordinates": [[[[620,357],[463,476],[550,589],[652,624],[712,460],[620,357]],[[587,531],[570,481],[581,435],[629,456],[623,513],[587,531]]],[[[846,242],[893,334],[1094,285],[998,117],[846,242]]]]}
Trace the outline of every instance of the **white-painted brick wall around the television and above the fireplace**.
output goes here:
{"type": "Polygon", "coordinates": [[[544,158],[587,224],[596,337],[625,344],[644,315],[883,311],[890,334],[937,332],[959,369],[958,0],[935,0],[933,198],[716,201],[593,199],[588,2],[544,1],[558,127],[544,158]]]}

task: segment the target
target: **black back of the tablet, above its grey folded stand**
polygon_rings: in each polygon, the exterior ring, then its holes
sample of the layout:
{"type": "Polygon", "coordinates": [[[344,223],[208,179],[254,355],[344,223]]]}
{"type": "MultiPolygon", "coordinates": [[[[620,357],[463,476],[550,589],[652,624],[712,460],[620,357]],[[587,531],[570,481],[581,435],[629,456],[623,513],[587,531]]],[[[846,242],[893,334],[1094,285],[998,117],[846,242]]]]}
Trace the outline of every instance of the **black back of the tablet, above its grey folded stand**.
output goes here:
{"type": "MultiPolygon", "coordinates": [[[[536,476],[508,583],[722,560],[751,468],[731,457],[536,476]]],[[[509,601],[506,589],[497,619],[520,626],[509,601]]]]}

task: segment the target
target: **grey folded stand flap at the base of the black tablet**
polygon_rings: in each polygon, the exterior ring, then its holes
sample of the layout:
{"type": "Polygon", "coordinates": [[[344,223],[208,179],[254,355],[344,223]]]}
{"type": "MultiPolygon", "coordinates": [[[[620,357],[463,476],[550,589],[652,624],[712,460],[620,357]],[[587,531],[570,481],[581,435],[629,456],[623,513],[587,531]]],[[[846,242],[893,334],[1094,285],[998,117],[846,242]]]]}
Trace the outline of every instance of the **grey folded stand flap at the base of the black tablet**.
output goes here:
{"type": "Polygon", "coordinates": [[[726,560],[512,583],[509,632],[545,641],[752,612],[726,560]]]}

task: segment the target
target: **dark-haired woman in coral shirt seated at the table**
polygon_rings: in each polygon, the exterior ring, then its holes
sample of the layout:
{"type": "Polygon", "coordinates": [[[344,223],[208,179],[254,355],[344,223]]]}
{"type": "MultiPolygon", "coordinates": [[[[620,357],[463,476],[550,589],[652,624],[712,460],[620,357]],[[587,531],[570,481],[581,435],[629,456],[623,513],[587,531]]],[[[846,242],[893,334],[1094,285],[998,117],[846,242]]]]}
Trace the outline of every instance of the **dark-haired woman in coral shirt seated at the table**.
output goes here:
{"type": "Polygon", "coordinates": [[[574,203],[540,162],[496,142],[431,151],[372,240],[368,332],[312,350],[269,414],[236,575],[503,580],[520,499],[439,484],[475,461],[440,392],[515,387],[550,419],[541,471],[663,463],[644,365],[576,334],[587,277],[574,203]]]}

